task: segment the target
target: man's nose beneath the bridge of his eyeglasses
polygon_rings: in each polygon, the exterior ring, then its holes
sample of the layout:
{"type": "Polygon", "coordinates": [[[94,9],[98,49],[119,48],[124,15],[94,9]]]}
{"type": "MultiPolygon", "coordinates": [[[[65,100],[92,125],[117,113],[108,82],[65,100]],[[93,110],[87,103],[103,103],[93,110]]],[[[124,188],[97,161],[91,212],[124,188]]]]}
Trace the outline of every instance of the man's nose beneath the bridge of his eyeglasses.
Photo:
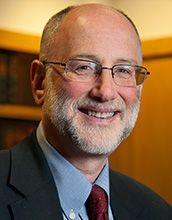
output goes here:
{"type": "Polygon", "coordinates": [[[117,85],[114,83],[110,69],[103,69],[90,92],[91,98],[101,102],[114,100],[118,96],[117,85]]]}

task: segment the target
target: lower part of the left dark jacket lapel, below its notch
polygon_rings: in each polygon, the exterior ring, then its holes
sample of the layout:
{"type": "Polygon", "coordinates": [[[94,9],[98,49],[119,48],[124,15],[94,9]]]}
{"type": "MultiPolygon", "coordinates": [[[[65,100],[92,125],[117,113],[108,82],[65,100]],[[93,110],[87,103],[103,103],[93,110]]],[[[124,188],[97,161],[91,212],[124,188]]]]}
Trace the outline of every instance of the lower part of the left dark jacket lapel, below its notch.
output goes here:
{"type": "Polygon", "coordinates": [[[60,205],[51,184],[44,184],[38,191],[10,205],[16,220],[62,219],[60,205]]]}

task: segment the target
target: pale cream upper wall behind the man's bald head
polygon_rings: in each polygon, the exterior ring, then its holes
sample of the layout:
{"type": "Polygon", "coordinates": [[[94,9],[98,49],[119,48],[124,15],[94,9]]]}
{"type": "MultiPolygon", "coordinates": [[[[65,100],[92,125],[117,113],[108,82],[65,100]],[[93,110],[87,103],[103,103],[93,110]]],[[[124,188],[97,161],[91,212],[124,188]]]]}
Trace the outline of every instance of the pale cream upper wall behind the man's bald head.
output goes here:
{"type": "Polygon", "coordinates": [[[172,36],[171,0],[0,0],[0,29],[40,35],[48,18],[67,5],[100,2],[126,12],[141,38],[172,36]]]}

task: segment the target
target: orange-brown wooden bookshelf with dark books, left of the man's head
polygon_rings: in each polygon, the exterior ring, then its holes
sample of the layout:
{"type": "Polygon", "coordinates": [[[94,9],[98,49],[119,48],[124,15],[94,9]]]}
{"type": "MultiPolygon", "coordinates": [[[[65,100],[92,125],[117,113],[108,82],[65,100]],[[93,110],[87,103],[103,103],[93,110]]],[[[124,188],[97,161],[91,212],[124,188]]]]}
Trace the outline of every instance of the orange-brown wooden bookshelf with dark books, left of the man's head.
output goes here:
{"type": "Polygon", "coordinates": [[[40,37],[0,30],[0,149],[28,135],[41,119],[30,87],[40,37]]]}

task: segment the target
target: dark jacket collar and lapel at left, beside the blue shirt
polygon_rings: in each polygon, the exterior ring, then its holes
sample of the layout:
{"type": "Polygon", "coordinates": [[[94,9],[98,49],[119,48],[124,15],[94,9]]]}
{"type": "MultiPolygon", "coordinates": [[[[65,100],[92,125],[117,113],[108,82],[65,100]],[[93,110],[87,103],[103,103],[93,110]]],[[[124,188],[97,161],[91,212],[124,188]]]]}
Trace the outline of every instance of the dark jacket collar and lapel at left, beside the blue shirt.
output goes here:
{"type": "Polygon", "coordinates": [[[11,151],[9,186],[18,194],[10,204],[14,219],[62,219],[55,183],[34,135],[11,151]]]}

